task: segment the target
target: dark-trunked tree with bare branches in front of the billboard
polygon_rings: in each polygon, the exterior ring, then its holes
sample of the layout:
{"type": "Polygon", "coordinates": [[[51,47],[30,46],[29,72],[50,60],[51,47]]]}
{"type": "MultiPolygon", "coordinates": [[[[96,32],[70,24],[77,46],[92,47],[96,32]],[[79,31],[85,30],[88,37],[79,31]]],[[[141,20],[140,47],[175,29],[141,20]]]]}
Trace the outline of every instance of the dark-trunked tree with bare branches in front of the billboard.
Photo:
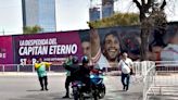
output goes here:
{"type": "Polygon", "coordinates": [[[164,8],[166,0],[158,3],[155,0],[132,0],[139,9],[139,17],[141,23],[141,60],[147,60],[147,51],[149,48],[149,35],[154,27],[165,28],[164,8]],[[140,2],[139,2],[140,1],[140,2]]]}

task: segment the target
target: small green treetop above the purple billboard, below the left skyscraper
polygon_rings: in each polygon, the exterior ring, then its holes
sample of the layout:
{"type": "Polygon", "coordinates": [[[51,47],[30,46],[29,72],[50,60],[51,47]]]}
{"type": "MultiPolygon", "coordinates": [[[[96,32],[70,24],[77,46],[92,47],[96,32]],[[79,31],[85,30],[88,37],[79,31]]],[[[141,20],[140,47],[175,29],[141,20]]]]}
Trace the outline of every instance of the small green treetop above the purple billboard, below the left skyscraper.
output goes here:
{"type": "Polygon", "coordinates": [[[40,33],[42,32],[42,28],[38,25],[35,25],[35,26],[25,26],[23,28],[23,32],[24,34],[37,34],[37,33],[40,33]]]}

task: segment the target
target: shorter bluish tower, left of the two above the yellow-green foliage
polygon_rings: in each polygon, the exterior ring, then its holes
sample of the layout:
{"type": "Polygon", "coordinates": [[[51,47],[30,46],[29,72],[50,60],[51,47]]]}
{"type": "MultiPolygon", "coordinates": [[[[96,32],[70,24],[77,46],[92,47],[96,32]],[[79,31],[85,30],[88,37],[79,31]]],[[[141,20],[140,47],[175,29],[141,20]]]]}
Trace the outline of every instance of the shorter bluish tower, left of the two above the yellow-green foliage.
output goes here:
{"type": "Polygon", "coordinates": [[[90,21],[100,20],[100,8],[90,8],[89,9],[90,21]]]}

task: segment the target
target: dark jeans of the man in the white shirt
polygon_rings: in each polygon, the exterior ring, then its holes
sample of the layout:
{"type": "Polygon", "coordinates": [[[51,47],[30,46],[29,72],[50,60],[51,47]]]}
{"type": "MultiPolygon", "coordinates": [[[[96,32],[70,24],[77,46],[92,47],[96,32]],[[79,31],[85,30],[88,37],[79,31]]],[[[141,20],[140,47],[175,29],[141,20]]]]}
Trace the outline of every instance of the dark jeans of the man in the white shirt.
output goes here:
{"type": "Polygon", "coordinates": [[[123,84],[123,89],[124,90],[128,90],[129,79],[130,79],[130,74],[122,73],[122,84],[123,84]]]}

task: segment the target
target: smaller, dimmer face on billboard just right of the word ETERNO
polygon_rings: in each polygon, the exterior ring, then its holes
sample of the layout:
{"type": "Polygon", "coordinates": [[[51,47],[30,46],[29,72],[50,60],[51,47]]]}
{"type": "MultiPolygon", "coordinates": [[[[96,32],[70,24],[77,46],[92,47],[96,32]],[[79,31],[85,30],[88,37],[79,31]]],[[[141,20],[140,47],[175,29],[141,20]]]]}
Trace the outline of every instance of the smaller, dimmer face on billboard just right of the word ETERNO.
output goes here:
{"type": "Polygon", "coordinates": [[[89,41],[84,41],[81,43],[81,48],[82,48],[84,54],[89,58],[90,57],[90,51],[91,51],[90,42],[89,41]]]}

